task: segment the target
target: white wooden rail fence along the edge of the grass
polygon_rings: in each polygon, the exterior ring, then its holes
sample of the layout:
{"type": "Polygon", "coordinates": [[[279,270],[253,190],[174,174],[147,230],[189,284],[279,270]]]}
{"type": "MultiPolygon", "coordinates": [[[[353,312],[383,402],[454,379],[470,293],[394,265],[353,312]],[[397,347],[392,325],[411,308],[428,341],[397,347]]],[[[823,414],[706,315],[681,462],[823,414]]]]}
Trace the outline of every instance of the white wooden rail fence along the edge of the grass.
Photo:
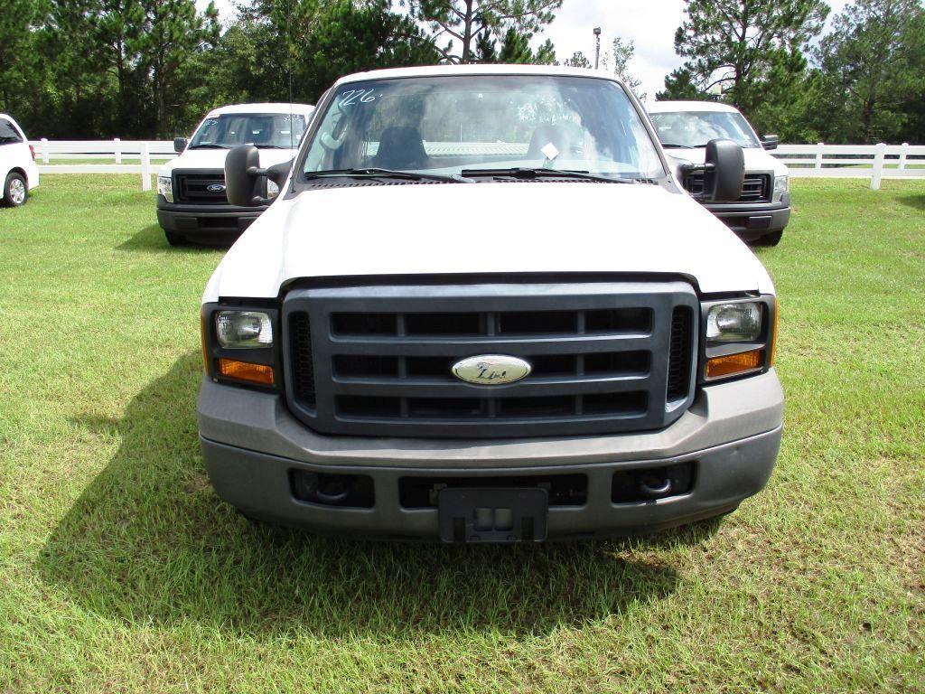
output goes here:
{"type": "MultiPolygon", "coordinates": [[[[86,140],[30,143],[42,173],[133,173],[142,175],[142,191],[151,190],[153,164],[172,159],[172,142],[86,140]],[[55,164],[55,160],[87,160],[86,164],[55,164]],[[111,159],[115,164],[93,164],[111,159]],[[138,163],[127,164],[126,161],[138,163]]],[[[772,155],[783,161],[790,175],[808,178],[870,179],[880,188],[883,179],[925,178],[925,145],[909,144],[782,144],[772,155]]]]}

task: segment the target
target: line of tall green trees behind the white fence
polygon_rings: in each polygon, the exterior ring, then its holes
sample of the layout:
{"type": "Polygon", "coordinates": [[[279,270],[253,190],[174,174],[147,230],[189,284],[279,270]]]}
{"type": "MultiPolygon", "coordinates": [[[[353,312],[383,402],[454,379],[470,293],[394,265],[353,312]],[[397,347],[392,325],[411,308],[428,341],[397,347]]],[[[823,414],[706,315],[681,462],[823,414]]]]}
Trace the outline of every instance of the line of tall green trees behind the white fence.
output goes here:
{"type": "MultiPolygon", "coordinates": [[[[578,2],[580,0],[568,0],[578,2]]],[[[437,63],[558,64],[563,0],[5,0],[0,111],[52,139],[169,138],[216,105],[314,103],[340,75],[437,63]]],[[[787,142],[925,142],[921,0],[685,0],[685,59],[658,98],[717,99],[787,142]]],[[[631,88],[632,42],[602,67],[631,88]]],[[[561,61],[591,67],[582,53],[561,61]]]]}

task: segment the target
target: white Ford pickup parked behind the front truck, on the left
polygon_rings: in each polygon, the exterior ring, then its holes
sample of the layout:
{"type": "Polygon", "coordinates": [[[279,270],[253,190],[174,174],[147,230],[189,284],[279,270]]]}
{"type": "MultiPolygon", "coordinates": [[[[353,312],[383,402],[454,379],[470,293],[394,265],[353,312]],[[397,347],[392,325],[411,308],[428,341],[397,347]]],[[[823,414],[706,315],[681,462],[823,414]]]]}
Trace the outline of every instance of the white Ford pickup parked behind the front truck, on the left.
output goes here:
{"type": "MultiPolygon", "coordinates": [[[[265,205],[241,209],[225,194],[225,155],[240,144],[253,144],[260,162],[290,161],[314,106],[307,104],[237,104],[210,111],[193,132],[179,137],[179,156],[157,173],[157,222],[170,245],[189,241],[224,241],[247,229],[265,205]]],[[[278,192],[267,184],[267,199],[278,192]]]]}

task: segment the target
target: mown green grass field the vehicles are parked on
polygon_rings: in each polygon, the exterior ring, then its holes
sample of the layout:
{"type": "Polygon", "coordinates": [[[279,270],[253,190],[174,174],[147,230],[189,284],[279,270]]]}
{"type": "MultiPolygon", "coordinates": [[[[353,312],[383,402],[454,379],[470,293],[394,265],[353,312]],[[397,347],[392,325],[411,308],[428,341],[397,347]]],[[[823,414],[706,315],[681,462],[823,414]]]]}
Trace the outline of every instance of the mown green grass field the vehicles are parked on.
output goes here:
{"type": "Polygon", "coordinates": [[[721,522],[537,548],[254,527],[137,177],[0,210],[0,692],[925,690],[925,182],[793,182],[783,449],[721,522]],[[88,195],[87,191],[93,194],[88,195]]]}

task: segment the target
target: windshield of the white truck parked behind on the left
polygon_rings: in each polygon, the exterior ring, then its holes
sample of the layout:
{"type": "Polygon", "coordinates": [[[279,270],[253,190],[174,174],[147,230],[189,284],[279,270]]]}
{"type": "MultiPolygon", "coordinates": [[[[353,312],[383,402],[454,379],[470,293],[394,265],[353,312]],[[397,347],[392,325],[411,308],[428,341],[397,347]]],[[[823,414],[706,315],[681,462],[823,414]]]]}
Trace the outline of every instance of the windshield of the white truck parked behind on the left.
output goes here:
{"type": "Polygon", "coordinates": [[[253,144],[264,149],[298,147],[305,132],[305,118],[288,113],[229,113],[206,118],[192,136],[190,149],[253,144]]]}

